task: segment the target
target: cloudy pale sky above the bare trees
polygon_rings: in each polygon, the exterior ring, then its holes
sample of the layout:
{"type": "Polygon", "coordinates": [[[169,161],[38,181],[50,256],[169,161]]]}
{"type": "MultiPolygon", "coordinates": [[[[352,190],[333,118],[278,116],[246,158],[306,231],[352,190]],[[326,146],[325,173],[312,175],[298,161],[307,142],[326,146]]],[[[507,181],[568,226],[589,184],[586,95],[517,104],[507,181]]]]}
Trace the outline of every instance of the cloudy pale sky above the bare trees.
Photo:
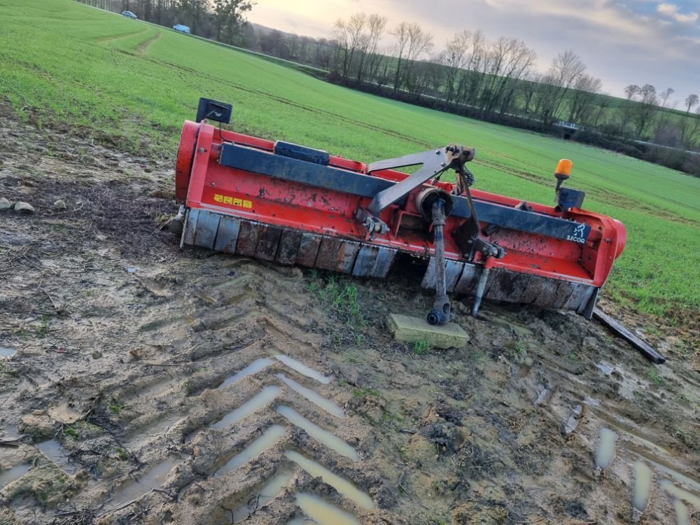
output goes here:
{"type": "Polygon", "coordinates": [[[617,97],[628,84],[673,87],[680,109],[689,93],[700,94],[700,0],[256,0],[248,20],[332,38],[335,20],[358,12],[385,15],[390,28],[419,22],[437,48],[463,29],[522,38],[542,71],[573,49],[617,97]]]}

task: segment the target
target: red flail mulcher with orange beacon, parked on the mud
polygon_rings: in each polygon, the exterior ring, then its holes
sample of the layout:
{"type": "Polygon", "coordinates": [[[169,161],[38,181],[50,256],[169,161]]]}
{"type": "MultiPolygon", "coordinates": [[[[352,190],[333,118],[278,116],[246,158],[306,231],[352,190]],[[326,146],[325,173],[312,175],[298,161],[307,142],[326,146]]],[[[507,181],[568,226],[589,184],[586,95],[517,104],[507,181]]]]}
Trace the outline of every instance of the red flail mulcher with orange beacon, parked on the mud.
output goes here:
{"type": "Polygon", "coordinates": [[[379,278],[407,253],[427,263],[431,324],[449,321],[447,293],[474,295],[472,314],[486,297],[591,318],[624,248],[622,223],[584,211],[584,193],[561,186],[569,160],[559,161],[549,207],[470,190],[473,148],[451,144],[365,164],[222,130],[231,111],[201,99],[197,122],[183,126],[181,245],[379,278]],[[420,167],[410,175],[395,171],[412,166],[420,167]],[[440,181],[448,170],[456,183],[440,181]]]}

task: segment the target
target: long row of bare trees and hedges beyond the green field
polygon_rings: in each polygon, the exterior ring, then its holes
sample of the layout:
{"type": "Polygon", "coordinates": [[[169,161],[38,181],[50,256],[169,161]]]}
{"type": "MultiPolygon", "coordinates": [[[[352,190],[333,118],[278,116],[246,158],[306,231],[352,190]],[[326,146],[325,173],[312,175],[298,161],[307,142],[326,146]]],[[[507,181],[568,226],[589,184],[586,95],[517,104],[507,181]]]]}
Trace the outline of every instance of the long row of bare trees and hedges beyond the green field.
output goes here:
{"type": "Polygon", "coordinates": [[[671,87],[631,84],[624,97],[603,92],[572,50],[547,71],[518,38],[460,31],[435,45],[416,22],[390,26],[382,15],[339,18],[332,38],[311,38],[250,25],[248,0],[79,0],[109,10],[132,10],[159,25],[188,25],[193,34],[323,69],[325,80],[411,104],[524,127],[700,174],[700,104],[682,109],[671,87]],[[656,144],[657,146],[652,145],[656,144]]]}

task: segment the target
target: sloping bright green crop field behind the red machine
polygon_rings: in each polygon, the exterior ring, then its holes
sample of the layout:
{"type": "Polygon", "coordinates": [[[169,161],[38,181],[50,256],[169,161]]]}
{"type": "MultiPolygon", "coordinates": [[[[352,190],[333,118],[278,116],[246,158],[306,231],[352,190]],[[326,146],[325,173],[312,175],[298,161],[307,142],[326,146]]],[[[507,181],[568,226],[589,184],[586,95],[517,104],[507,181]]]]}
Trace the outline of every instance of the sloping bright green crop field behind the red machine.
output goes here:
{"type": "Polygon", "coordinates": [[[700,311],[700,179],[608,151],[409,106],[71,0],[0,0],[0,96],[21,118],[174,158],[200,96],[235,130],[370,161],[474,146],[476,188],[551,203],[559,158],[585,207],[621,220],[627,248],[605,294],[666,316],[700,311]]]}

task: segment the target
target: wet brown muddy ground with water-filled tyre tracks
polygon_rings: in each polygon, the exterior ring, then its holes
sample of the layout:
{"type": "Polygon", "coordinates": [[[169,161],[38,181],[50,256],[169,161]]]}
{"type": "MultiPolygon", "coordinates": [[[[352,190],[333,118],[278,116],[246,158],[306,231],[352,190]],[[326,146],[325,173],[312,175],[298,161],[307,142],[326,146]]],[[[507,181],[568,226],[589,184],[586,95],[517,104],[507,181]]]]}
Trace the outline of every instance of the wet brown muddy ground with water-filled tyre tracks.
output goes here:
{"type": "Polygon", "coordinates": [[[653,366],[575,314],[455,302],[465,347],[399,344],[410,272],[181,251],[169,163],[0,119],[0,197],[35,209],[0,211],[0,524],[700,522],[672,337],[653,366]]]}

